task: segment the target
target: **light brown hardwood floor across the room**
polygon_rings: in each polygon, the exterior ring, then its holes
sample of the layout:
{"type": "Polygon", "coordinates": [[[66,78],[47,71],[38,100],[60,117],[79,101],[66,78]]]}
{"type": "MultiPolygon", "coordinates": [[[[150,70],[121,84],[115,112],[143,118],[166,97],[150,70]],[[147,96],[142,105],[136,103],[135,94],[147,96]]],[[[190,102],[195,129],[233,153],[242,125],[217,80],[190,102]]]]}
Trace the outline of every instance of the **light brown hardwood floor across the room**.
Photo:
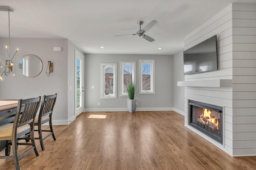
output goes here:
{"type": "MultiPolygon", "coordinates": [[[[256,169],[256,156],[226,154],[186,128],[184,116],[174,111],[87,112],[53,128],[57,140],[44,140],[44,151],[36,140],[40,156],[32,151],[20,159],[22,170],[256,169]]],[[[12,159],[0,160],[0,170],[11,169],[12,159]]]]}

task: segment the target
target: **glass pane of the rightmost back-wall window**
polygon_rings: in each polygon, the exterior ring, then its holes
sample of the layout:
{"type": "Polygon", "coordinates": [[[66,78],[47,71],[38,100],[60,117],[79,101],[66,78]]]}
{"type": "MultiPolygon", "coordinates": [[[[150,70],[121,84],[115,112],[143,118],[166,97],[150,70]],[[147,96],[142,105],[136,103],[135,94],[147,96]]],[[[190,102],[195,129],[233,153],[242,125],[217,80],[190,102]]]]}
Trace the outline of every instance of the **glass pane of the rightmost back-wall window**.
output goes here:
{"type": "Polygon", "coordinates": [[[151,90],[151,63],[142,63],[142,90],[151,90]]]}

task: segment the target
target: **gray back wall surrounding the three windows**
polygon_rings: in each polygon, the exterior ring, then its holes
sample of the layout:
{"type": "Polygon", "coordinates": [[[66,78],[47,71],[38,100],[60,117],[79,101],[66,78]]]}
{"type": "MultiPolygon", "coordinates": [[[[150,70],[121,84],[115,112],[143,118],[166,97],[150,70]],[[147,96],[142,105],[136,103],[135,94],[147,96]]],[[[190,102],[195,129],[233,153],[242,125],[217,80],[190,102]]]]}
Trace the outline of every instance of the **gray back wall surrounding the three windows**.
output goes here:
{"type": "Polygon", "coordinates": [[[127,110],[128,97],[120,97],[120,61],[136,61],[136,81],[139,81],[139,59],[155,59],[155,94],[136,94],[137,108],[173,107],[173,56],[172,55],[85,55],[85,109],[127,110]],[[117,63],[117,99],[100,99],[100,63],[117,63]],[[92,89],[91,86],[95,88],[92,89]],[[100,102],[100,106],[98,106],[100,102]]]}

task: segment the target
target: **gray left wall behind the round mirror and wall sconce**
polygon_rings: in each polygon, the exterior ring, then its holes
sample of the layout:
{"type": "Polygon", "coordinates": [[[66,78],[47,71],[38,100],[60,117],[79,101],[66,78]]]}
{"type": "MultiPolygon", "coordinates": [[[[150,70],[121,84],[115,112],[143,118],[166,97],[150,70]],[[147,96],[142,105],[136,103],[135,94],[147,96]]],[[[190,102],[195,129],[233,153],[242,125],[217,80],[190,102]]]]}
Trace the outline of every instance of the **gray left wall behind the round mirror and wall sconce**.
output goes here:
{"type": "MultiPolygon", "coordinates": [[[[6,56],[5,45],[8,45],[8,38],[0,38],[0,56],[3,60],[6,56]]],[[[14,55],[16,48],[19,49],[13,59],[13,71],[16,75],[3,76],[4,80],[0,81],[0,99],[32,98],[57,93],[53,119],[68,119],[68,40],[11,38],[10,46],[11,56],[14,55]],[[62,51],[55,52],[53,47],[62,47],[62,51]],[[28,54],[37,55],[43,63],[42,72],[34,78],[24,76],[18,69],[20,59],[28,54]],[[45,74],[48,61],[53,63],[53,72],[49,77],[45,74]]]]}

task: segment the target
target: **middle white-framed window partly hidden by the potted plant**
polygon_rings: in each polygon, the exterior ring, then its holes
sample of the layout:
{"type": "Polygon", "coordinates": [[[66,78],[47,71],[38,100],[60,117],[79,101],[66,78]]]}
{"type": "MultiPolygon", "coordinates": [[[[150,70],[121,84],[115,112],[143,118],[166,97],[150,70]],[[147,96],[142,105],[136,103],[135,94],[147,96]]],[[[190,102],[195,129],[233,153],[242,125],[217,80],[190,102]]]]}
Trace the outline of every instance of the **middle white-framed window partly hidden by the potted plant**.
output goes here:
{"type": "Polygon", "coordinates": [[[132,81],[136,83],[136,62],[120,62],[120,96],[127,96],[126,85],[132,81]]]}

